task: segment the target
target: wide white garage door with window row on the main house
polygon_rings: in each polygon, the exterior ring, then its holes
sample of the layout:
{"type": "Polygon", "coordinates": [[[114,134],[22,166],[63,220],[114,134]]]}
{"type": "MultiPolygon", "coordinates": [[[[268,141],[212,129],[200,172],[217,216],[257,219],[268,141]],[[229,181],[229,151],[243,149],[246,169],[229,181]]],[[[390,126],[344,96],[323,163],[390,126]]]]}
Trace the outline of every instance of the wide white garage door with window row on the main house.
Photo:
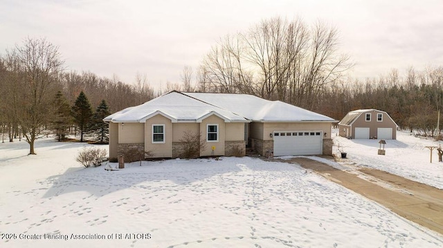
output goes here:
{"type": "Polygon", "coordinates": [[[323,154],[322,131],[274,131],[274,155],[323,154]]]}

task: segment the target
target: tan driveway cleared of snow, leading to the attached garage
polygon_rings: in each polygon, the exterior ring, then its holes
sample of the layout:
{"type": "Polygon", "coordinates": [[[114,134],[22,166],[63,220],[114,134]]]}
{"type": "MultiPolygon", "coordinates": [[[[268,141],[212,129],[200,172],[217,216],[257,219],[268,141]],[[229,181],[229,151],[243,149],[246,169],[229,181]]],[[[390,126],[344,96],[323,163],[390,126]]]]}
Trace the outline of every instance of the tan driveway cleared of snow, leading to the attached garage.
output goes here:
{"type": "Polygon", "coordinates": [[[316,171],[347,189],[379,202],[399,216],[443,234],[443,191],[440,189],[376,169],[361,168],[357,174],[308,158],[284,161],[316,171]]]}

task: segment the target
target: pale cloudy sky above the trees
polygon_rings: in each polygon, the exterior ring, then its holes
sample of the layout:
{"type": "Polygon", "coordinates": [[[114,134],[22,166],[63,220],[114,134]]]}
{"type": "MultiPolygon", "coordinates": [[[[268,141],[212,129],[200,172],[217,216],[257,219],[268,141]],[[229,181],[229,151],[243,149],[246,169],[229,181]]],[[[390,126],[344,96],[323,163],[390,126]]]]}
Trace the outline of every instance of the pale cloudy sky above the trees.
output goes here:
{"type": "Polygon", "coordinates": [[[0,55],[44,37],[67,70],[128,84],[140,73],[159,87],[180,82],[183,67],[197,68],[220,37],[271,17],[336,27],[356,64],[352,77],[443,66],[441,0],[0,0],[0,55]]]}

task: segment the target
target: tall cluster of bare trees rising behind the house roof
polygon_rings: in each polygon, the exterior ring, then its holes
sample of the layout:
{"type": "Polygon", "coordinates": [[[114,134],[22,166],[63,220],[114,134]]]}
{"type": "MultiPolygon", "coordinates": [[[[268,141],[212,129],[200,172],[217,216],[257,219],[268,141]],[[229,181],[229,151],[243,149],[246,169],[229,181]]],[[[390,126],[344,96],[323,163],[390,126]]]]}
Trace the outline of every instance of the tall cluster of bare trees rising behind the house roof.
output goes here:
{"type": "Polygon", "coordinates": [[[322,90],[352,66],[348,60],[338,54],[336,29],[273,18],[221,39],[199,73],[205,74],[205,90],[248,93],[312,109],[322,90]]]}

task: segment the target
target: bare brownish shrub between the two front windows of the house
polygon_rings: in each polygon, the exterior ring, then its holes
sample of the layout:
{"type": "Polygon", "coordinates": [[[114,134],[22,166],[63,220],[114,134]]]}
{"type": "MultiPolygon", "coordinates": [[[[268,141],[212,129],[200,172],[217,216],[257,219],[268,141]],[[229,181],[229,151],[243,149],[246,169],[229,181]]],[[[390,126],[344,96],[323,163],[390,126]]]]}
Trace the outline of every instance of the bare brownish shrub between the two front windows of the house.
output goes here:
{"type": "Polygon", "coordinates": [[[185,131],[180,140],[180,157],[181,158],[199,158],[200,151],[206,148],[206,142],[201,140],[200,133],[192,133],[185,131]]]}

